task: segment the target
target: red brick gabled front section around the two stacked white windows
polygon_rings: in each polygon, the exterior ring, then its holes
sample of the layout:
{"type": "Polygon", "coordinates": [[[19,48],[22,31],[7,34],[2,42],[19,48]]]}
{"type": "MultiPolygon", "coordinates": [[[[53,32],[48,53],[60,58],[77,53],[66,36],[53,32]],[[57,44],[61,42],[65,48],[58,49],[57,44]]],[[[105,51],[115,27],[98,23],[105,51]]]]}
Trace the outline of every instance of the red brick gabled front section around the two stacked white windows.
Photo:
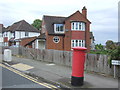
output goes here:
{"type": "Polygon", "coordinates": [[[71,32],[71,21],[83,21],[86,23],[86,28],[85,28],[86,30],[85,30],[85,32],[79,31],[79,38],[80,39],[85,38],[87,51],[89,52],[89,50],[90,50],[90,23],[91,22],[89,22],[86,18],[84,18],[84,16],[79,11],[77,11],[76,13],[71,15],[65,21],[65,29],[68,30],[68,32],[65,33],[65,36],[69,37],[69,38],[66,38],[66,40],[68,41],[68,44],[70,44],[70,45],[68,45],[67,43],[65,43],[66,50],[68,50],[68,48],[69,48],[69,50],[71,50],[71,39],[78,38],[78,33],[75,33],[76,31],[71,32]]]}

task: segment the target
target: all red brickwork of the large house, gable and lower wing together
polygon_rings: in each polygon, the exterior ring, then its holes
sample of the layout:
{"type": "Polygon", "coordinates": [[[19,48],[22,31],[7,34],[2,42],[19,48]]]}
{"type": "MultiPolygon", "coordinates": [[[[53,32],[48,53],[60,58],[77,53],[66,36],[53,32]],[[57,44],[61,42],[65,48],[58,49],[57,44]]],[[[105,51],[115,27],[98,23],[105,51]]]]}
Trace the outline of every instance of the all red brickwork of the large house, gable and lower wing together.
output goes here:
{"type": "MultiPolygon", "coordinates": [[[[55,50],[65,50],[71,51],[71,40],[72,39],[80,39],[85,40],[87,51],[90,50],[90,23],[83,14],[79,11],[72,14],[65,20],[65,36],[59,36],[60,42],[54,43],[53,37],[54,35],[48,35],[46,32],[46,49],[55,49],[55,50]],[[82,21],[86,24],[85,31],[71,31],[71,21],[82,21]]],[[[44,28],[45,22],[42,23],[42,33],[45,33],[44,28]]]]}

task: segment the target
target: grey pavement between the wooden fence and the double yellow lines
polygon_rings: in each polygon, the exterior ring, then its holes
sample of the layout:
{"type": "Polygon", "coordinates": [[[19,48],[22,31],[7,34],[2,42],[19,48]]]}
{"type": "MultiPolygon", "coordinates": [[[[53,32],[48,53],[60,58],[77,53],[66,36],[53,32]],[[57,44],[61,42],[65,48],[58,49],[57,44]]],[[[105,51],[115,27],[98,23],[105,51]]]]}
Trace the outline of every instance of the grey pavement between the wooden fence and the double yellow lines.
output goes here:
{"type": "MultiPolygon", "coordinates": [[[[2,57],[2,55],[0,55],[2,57]]],[[[63,88],[118,88],[118,79],[96,73],[84,72],[84,85],[71,85],[71,67],[41,62],[20,56],[12,56],[9,66],[35,78],[45,80],[63,88]]]]}

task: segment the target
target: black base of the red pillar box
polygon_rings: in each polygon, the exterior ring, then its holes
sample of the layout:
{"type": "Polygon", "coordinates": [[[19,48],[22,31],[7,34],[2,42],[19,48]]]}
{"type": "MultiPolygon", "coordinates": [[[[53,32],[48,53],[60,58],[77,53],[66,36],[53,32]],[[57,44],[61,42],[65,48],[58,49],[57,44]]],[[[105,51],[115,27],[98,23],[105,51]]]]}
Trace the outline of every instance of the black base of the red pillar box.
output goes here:
{"type": "Polygon", "coordinates": [[[73,86],[82,86],[84,77],[71,77],[71,85],[73,86]]]}

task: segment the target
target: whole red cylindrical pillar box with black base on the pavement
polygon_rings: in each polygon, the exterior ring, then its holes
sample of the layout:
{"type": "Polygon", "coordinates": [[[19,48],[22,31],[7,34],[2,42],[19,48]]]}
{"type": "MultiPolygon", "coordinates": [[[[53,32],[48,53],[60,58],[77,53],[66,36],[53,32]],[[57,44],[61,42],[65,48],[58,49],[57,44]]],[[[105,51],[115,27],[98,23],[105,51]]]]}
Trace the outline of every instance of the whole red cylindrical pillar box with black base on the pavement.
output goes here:
{"type": "Polygon", "coordinates": [[[84,80],[85,47],[74,47],[72,58],[71,85],[82,86],[84,80]]]}

